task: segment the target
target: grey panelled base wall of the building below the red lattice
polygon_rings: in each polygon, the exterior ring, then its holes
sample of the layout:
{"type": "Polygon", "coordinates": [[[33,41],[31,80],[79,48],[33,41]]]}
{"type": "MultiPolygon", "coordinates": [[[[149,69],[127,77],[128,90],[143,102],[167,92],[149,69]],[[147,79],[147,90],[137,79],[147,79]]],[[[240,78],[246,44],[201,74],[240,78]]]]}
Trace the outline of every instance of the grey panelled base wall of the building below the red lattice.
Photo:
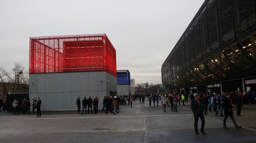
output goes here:
{"type": "Polygon", "coordinates": [[[41,110],[77,109],[78,96],[81,102],[97,96],[100,109],[104,96],[117,92],[116,77],[105,71],[29,74],[29,79],[29,98],[40,97],[41,110]]]}

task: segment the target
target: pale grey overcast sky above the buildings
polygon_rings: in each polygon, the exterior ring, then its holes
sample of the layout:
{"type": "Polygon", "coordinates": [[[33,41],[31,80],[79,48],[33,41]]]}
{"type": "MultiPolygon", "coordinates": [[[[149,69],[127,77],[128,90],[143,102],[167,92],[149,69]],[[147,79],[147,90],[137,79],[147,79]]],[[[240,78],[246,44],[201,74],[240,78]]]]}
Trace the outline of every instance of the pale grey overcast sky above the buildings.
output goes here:
{"type": "Polygon", "coordinates": [[[117,70],[161,82],[161,66],[204,0],[0,0],[0,66],[29,68],[29,37],[106,33],[117,70]]]}

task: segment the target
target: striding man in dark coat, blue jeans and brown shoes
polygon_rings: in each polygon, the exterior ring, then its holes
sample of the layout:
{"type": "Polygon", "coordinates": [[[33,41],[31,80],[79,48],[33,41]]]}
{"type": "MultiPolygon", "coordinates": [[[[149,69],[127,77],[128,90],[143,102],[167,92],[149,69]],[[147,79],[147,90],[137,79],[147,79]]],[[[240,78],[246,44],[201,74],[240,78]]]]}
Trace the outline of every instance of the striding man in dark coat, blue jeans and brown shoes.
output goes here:
{"type": "Polygon", "coordinates": [[[236,130],[237,129],[240,129],[241,126],[238,126],[236,124],[236,120],[233,116],[233,106],[231,105],[230,103],[230,94],[229,93],[225,93],[225,96],[226,98],[223,100],[223,106],[224,106],[224,113],[225,113],[225,117],[224,117],[224,120],[223,120],[223,128],[224,129],[227,129],[227,126],[226,126],[226,120],[227,120],[227,117],[230,116],[230,118],[232,119],[235,127],[236,127],[236,130]]]}

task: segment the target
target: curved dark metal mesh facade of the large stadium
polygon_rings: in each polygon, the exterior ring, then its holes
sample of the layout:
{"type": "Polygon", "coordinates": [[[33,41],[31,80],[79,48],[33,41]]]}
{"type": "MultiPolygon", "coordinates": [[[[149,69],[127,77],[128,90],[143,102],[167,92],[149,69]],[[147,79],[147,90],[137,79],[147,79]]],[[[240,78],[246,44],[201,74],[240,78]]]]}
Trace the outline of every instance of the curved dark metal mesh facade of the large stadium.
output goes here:
{"type": "Polygon", "coordinates": [[[162,65],[166,88],[256,76],[255,0],[206,0],[162,65]]]}

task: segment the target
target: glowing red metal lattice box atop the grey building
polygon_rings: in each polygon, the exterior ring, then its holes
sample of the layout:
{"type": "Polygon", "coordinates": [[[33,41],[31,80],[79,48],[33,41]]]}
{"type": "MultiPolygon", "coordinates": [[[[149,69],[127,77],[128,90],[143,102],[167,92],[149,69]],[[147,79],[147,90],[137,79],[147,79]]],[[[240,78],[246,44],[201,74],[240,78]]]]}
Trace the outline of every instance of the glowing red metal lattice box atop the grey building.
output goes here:
{"type": "Polygon", "coordinates": [[[106,34],[30,37],[29,73],[107,71],[117,76],[106,34]]]}

